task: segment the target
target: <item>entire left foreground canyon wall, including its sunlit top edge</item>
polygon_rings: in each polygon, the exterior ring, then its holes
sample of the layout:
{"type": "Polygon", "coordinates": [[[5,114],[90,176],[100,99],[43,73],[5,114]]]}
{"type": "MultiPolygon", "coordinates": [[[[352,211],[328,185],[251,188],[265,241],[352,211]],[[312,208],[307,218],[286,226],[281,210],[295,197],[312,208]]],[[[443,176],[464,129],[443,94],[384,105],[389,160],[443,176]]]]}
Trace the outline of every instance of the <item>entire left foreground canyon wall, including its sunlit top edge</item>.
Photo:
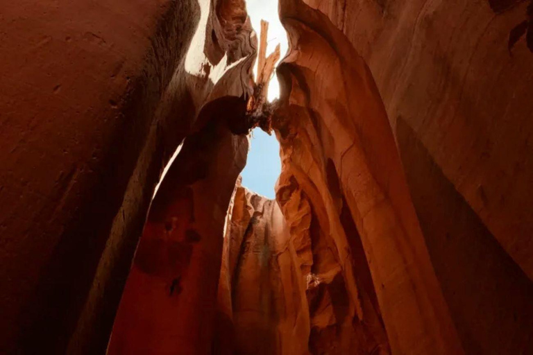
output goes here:
{"type": "Polygon", "coordinates": [[[244,1],[18,1],[1,22],[0,352],[102,354],[155,184],[185,137],[235,125],[255,37],[244,1]]]}

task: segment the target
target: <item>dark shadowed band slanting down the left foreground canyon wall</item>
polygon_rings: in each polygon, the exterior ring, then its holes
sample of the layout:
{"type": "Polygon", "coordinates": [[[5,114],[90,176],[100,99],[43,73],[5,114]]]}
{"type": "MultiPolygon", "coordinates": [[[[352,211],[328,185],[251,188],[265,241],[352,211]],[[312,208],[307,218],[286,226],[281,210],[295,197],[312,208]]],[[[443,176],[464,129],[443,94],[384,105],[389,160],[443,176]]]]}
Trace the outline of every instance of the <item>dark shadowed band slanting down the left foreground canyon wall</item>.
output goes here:
{"type": "MultiPolygon", "coordinates": [[[[42,349],[60,354],[67,345],[78,351],[83,349],[87,354],[105,352],[161,168],[190,130],[195,116],[187,90],[176,94],[168,110],[178,117],[158,116],[158,106],[171,80],[183,83],[195,79],[185,73],[183,58],[199,19],[197,0],[172,2],[160,19],[155,39],[146,53],[142,76],[131,78],[126,96],[113,103],[118,112],[110,119],[117,123],[107,140],[108,146],[95,147],[94,154],[100,160],[95,164],[95,158],[89,167],[90,182],[85,184],[92,185],[90,193],[76,198],[81,199],[77,201],[81,208],[76,209],[75,217],[63,227],[51,262],[42,271],[40,283],[33,291],[33,300],[23,311],[26,324],[18,343],[25,354],[37,354],[42,349]],[[184,77],[174,78],[180,72],[184,77]],[[160,126],[164,119],[164,126],[160,126]],[[155,149],[150,156],[142,155],[154,124],[158,125],[155,149]],[[132,191],[126,187],[137,164],[145,166],[142,179],[135,187],[137,191],[132,191]],[[140,200],[139,190],[142,191],[140,200]],[[115,223],[119,229],[117,235],[110,234],[115,223]],[[107,255],[105,248],[110,248],[107,255]],[[98,275],[97,266],[104,258],[108,267],[105,274],[98,275]],[[98,288],[97,295],[87,298],[92,287],[98,288]],[[90,311],[85,318],[80,318],[84,306],[90,311]]],[[[74,169],[56,193],[69,193],[76,175],[84,173],[76,166],[74,169]]],[[[75,207],[67,204],[62,208],[75,207]]],[[[41,227],[46,233],[46,226],[41,227]]]]}

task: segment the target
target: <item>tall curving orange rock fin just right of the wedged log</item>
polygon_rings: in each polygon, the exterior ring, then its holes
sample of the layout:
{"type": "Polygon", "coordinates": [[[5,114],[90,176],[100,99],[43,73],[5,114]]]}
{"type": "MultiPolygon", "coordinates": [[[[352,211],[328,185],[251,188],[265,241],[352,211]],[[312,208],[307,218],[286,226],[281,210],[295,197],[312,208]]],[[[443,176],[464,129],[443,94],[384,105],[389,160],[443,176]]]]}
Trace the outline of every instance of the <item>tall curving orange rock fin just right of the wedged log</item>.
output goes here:
{"type": "Polygon", "coordinates": [[[278,69],[282,103],[273,122],[282,146],[280,202],[298,189],[309,196],[336,247],[328,249],[336,250],[352,300],[348,318],[362,322],[366,344],[384,338],[372,329],[378,310],[365,313],[360,304],[360,294],[375,292],[393,354],[461,354],[369,69],[346,37],[301,1],[282,1],[280,18],[291,42],[278,69]],[[335,223],[342,208],[358,233],[335,223]],[[373,290],[359,290],[351,275],[359,236],[373,290]]]}

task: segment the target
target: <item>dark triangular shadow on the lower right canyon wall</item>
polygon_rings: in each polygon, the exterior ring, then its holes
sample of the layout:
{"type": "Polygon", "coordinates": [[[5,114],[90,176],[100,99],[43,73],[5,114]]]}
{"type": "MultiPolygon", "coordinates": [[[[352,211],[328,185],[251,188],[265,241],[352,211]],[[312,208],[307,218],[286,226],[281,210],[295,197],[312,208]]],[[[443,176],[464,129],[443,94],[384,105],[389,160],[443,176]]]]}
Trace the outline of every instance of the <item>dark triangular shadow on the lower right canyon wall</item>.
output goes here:
{"type": "Polygon", "coordinates": [[[396,129],[425,243],[466,354],[533,353],[530,279],[401,116],[396,129]]]}

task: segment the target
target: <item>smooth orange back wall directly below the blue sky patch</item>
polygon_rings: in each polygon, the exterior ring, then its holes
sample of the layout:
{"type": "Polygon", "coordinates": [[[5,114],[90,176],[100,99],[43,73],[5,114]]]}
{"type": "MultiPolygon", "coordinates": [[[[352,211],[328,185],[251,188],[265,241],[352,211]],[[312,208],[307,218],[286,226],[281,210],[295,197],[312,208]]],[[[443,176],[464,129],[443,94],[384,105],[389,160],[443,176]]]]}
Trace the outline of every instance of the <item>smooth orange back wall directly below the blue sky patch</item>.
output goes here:
{"type": "Polygon", "coordinates": [[[285,218],[275,200],[240,186],[224,237],[218,297],[214,354],[309,354],[305,284],[285,218]],[[231,352],[223,336],[232,338],[231,352]]]}

